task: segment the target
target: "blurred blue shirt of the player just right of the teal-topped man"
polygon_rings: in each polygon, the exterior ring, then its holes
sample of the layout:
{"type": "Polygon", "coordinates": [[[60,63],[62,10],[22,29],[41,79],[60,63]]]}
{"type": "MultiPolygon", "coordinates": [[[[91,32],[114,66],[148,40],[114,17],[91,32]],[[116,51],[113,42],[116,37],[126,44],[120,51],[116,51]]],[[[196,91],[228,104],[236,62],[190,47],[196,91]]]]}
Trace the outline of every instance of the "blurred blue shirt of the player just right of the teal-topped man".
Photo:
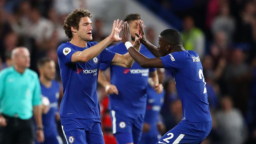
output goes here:
{"type": "Polygon", "coordinates": [[[48,113],[42,115],[43,120],[43,126],[44,126],[44,136],[45,137],[51,137],[51,136],[57,136],[58,130],[55,120],[55,114],[58,112],[58,101],[60,96],[60,84],[53,80],[52,86],[47,88],[42,83],[41,90],[42,95],[47,97],[50,101],[50,110],[48,113]]]}

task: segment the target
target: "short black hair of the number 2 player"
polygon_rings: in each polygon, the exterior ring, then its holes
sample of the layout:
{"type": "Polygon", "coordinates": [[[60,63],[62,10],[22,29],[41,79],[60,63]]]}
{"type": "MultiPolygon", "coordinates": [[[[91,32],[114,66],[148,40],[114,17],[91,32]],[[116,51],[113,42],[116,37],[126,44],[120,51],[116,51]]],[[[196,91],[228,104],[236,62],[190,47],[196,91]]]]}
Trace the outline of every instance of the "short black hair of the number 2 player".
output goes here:
{"type": "Polygon", "coordinates": [[[182,44],[182,38],[179,31],[175,29],[166,29],[160,33],[160,36],[165,38],[171,45],[182,44]]]}

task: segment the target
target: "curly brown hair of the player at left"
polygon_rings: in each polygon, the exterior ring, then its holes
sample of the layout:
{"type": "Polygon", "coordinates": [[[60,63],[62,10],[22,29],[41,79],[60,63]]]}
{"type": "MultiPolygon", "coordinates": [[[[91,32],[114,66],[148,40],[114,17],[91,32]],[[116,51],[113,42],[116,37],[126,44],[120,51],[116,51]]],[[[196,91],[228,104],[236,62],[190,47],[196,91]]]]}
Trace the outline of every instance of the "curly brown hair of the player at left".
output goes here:
{"type": "Polygon", "coordinates": [[[65,30],[65,34],[68,38],[72,38],[72,31],[71,27],[74,27],[75,29],[79,30],[79,23],[82,17],[89,17],[91,18],[91,13],[88,10],[85,9],[76,9],[71,14],[69,14],[64,21],[63,29],[65,30]]]}

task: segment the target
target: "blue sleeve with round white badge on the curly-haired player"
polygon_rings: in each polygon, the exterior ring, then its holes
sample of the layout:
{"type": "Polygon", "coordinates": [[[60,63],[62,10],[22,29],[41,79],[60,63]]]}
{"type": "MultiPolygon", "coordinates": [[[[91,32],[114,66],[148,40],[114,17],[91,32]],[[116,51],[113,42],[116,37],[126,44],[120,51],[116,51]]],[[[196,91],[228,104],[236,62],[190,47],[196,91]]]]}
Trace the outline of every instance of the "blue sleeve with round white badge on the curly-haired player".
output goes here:
{"type": "Polygon", "coordinates": [[[68,45],[61,45],[57,49],[58,58],[65,64],[71,63],[71,57],[75,52],[77,50],[68,45]]]}

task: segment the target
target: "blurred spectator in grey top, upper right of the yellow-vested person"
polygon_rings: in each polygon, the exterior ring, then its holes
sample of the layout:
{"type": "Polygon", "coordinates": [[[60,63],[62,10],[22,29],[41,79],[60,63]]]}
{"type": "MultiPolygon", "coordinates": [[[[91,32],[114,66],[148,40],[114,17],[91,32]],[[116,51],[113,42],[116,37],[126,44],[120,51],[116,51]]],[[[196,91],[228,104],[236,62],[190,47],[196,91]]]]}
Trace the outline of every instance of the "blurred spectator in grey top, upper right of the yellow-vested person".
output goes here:
{"type": "Polygon", "coordinates": [[[235,32],[235,20],[230,16],[229,6],[224,3],[220,6],[220,13],[212,23],[212,33],[222,31],[226,34],[227,41],[230,43],[235,32]]]}

